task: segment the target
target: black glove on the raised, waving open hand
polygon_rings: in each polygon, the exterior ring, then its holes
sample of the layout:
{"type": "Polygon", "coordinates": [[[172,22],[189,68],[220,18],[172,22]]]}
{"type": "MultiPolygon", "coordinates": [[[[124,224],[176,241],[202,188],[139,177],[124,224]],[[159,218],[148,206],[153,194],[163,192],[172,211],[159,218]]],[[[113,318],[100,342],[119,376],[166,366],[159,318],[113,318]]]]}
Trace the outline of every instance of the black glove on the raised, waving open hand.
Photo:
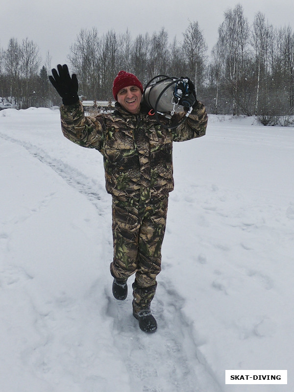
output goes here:
{"type": "Polygon", "coordinates": [[[74,103],[78,102],[78,82],[76,74],[73,73],[71,77],[68,66],[66,64],[58,64],[57,70],[59,74],[54,68],[52,69],[53,76],[50,75],[49,80],[62,98],[63,104],[73,105],[74,103]]]}

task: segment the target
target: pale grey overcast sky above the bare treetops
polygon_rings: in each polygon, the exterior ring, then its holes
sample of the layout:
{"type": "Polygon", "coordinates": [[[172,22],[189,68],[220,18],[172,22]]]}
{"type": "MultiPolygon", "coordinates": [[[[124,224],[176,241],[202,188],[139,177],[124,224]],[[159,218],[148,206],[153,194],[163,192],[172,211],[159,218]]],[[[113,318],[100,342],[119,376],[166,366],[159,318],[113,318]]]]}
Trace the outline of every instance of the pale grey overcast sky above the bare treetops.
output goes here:
{"type": "Polygon", "coordinates": [[[270,24],[291,25],[294,30],[293,0],[2,0],[0,47],[7,49],[12,37],[19,43],[28,37],[40,48],[44,64],[49,50],[55,67],[68,62],[69,48],[82,28],[96,27],[99,35],[110,29],[123,33],[128,28],[134,38],[165,27],[170,41],[175,35],[181,41],[189,21],[198,21],[210,52],[224,11],[238,3],[250,24],[260,11],[270,24]]]}

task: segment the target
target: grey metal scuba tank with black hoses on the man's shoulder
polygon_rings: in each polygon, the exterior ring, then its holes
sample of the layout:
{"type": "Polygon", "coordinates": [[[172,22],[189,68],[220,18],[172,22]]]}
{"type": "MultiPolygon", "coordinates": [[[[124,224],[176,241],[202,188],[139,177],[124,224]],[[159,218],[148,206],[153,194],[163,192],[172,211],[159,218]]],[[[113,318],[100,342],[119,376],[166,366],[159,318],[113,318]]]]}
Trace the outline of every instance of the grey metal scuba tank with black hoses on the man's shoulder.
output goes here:
{"type": "Polygon", "coordinates": [[[176,128],[192,112],[196,98],[193,92],[189,91],[188,82],[188,78],[157,75],[147,83],[142,100],[151,108],[149,115],[155,115],[156,120],[163,127],[176,128]],[[154,80],[158,78],[161,79],[155,82],[154,80]],[[183,112],[184,108],[187,112],[186,116],[175,125],[165,125],[158,117],[158,115],[162,115],[171,120],[174,113],[183,112]]]}

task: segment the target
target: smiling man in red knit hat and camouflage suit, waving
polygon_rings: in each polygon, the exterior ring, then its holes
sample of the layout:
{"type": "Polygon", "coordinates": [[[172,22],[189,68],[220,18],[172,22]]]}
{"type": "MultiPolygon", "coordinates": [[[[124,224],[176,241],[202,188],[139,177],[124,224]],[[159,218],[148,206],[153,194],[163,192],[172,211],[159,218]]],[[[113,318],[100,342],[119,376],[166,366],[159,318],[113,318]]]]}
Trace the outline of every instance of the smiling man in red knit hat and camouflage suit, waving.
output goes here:
{"type": "Polygon", "coordinates": [[[114,258],[110,271],[116,299],[127,296],[127,279],[135,273],[133,315],[145,332],[154,332],[157,323],[150,311],[161,270],[161,245],[165,233],[169,192],[173,190],[172,142],[205,135],[207,114],[193,93],[192,113],[184,122],[185,112],[172,121],[179,126],[158,123],[142,102],[143,86],[138,78],[120,71],[113,82],[115,111],[85,117],[78,99],[76,75],[66,65],[52,70],[49,79],[62,97],[60,107],[63,134],[72,142],[96,148],[104,157],[106,190],[112,195],[112,231],[114,258]],[[168,126],[168,125],[167,125],[168,126]]]}

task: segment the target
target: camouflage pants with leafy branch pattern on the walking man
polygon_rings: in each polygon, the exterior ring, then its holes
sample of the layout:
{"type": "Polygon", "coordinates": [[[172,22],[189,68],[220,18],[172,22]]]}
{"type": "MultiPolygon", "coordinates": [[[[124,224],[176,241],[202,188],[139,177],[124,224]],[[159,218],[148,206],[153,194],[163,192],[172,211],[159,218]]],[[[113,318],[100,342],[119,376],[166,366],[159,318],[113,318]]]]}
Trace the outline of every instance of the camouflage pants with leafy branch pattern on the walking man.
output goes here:
{"type": "Polygon", "coordinates": [[[135,312],[149,307],[161,271],[161,245],[166,227],[168,198],[136,202],[113,197],[113,277],[125,280],[136,273],[133,283],[135,312]]]}

